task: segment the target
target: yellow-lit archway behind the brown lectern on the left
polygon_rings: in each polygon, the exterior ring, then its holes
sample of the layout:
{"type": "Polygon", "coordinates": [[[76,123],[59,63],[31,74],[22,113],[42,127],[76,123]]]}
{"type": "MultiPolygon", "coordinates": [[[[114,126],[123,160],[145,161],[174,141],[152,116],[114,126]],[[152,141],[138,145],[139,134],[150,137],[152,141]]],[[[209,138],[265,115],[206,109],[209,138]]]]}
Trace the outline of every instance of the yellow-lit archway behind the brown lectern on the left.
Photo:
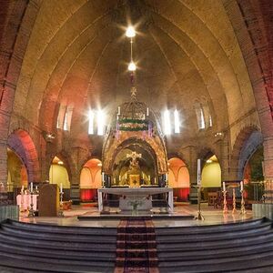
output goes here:
{"type": "Polygon", "coordinates": [[[70,181],[66,163],[59,157],[54,157],[49,168],[49,183],[63,187],[64,200],[70,199],[70,181]]]}

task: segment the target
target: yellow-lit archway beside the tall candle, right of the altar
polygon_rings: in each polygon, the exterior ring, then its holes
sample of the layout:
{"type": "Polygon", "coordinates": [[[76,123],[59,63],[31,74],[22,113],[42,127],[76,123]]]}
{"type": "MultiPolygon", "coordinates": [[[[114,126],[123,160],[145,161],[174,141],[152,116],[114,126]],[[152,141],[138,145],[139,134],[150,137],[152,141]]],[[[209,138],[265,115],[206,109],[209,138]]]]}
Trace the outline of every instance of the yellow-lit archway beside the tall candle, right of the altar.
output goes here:
{"type": "Polygon", "coordinates": [[[217,192],[221,187],[221,167],[215,155],[208,157],[202,168],[201,185],[202,199],[208,200],[210,193],[217,192]]]}

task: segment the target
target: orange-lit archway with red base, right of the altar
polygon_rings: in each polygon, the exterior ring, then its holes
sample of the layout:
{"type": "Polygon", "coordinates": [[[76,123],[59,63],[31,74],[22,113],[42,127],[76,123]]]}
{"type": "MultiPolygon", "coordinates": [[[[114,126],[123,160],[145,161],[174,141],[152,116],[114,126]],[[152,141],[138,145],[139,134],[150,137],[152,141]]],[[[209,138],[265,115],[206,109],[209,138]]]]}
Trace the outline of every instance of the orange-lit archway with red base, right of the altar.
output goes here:
{"type": "Polygon", "coordinates": [[[178,157],[170,158],[168,165],[168,185],[174,189],[177,201],[187,201],[189,195],[189,173],[183,160],[178,157]]]}

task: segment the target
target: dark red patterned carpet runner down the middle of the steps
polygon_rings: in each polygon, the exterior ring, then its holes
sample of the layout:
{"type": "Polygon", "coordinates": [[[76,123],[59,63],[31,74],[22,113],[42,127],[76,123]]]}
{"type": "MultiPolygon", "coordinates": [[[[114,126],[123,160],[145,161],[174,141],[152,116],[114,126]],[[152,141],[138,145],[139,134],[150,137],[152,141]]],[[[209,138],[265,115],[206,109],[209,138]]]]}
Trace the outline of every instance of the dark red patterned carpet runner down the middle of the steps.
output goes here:
{"type": "Polygon", "coordinates": [[[117,227],[115,273],[158,273],[157,242],[149,218],[121,220],[117,227]]]}

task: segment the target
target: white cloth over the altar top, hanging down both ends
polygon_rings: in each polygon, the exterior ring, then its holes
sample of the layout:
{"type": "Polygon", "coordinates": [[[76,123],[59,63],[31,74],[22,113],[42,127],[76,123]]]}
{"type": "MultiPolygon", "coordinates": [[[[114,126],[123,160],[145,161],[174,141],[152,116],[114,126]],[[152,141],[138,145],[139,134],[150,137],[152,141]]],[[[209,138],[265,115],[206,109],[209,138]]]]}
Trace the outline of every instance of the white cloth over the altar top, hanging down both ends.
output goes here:
{"type": "Polygon", "coordinates": [[[102,194],[112,194],[131,198],[148,197],[168,193],[167,203],[170,211],[174,209],[174,194],[171,187],[104,187],[97,189],[98,211],[103,210],[102,194]]]}

